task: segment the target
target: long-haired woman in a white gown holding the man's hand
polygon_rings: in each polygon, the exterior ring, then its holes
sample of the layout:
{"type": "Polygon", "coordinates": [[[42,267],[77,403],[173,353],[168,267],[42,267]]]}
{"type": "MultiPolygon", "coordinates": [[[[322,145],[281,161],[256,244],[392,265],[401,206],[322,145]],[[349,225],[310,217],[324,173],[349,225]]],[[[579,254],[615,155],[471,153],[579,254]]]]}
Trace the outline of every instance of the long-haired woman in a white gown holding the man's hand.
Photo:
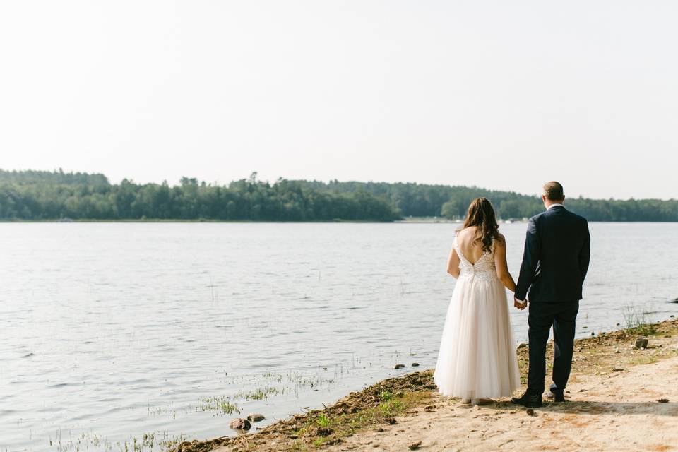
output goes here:
{"type": "Polygon", "coordinates": [[[440,393],[465,403],[511,396],[521,381],[504,287],[514,292],[516,283],[487,198],[476,198],[468,207],[447,271],[457,283],[433,374],[440,393]]]}

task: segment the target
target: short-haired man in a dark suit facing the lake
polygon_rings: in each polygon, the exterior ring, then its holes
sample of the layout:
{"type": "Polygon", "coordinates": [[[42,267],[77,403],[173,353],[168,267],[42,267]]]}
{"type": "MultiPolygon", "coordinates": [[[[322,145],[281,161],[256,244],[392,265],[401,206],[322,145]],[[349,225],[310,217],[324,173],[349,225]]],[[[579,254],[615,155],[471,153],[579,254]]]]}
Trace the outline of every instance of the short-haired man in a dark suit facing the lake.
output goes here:
{"type": "Polygon", "coordinates": [[[553,326],[554,357],[551,396],[564,402],[564,391],[572,367],[575,322],[588,262],[591,237],[588,222],[564,208],[563,186],[547,182],[542,201],[546,212],[530,218],[525,238],[521,275],[514,304],[528,305],[530,370],[528,389],[513,398],[530,408],[542,406],[546,376],[546,343],[553,326]]]}

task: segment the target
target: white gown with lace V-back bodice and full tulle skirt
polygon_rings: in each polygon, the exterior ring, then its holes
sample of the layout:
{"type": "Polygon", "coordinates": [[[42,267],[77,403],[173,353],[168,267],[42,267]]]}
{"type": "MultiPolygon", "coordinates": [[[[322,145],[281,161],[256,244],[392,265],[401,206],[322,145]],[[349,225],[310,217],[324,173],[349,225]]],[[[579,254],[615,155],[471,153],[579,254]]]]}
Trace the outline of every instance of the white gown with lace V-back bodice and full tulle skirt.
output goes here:
{"type": "Polygon", "coordinates": [[[452,246],[461,273],[452,293],[433,375],[440,393],[463,400],[501,398],[521,384],[506,290],[494,267],[494,242],[475,264],[452,246]]]}

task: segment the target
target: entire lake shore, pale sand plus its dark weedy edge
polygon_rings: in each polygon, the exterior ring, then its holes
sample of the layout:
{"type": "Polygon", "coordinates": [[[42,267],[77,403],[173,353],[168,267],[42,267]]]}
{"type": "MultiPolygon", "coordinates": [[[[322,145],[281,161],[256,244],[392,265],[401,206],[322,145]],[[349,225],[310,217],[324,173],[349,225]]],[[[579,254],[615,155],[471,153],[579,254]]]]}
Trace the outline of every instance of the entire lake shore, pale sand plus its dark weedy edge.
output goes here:
{"type": "MultiPolygon", "coordinates": [[[[524,379],[526,347],[518,359],[524,379]]],[[[429,369],[256,433],[186,441],[177,450],[678,451],[678,321],[578,340],[566,398],[534,410],[507,399],[465,405],[440,396],[429,369]],[[647,347],[635,347],[639,336],[649,338],[647,347]]]]}

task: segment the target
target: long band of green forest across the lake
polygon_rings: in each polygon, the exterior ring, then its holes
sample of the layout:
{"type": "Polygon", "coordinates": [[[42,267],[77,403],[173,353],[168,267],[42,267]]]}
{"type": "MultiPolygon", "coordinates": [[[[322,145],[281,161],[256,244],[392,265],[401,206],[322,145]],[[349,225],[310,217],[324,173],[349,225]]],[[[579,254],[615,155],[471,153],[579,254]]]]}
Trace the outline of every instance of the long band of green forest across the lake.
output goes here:
{"type": "MultiPolygon", "coordinates": [[[[0,220],[393,221],[459,219],[485,196],[499,218],[544,210],[536,195],[479,187],[412,182],[330,182],[257,178],[209,184],[182,177],[177,185],[112,184],[104,174],[0,169],[0,220]]],[[[678,200],[566,198],[590,221],[678,221],[678,200]]]]}

